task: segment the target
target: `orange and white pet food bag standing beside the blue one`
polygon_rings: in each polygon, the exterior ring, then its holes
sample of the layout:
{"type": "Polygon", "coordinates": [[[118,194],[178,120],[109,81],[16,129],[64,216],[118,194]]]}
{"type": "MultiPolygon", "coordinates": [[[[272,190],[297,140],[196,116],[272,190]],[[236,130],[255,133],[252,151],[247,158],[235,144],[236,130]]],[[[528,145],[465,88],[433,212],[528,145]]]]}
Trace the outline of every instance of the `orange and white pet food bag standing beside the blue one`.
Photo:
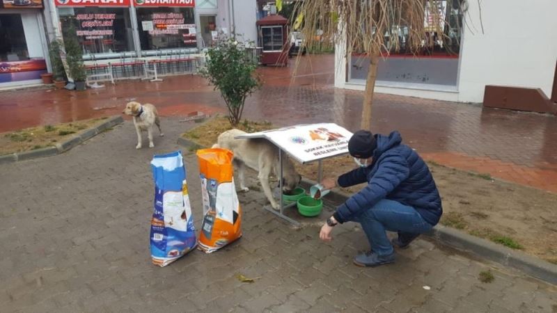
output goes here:
{"type": "Polygon", "coordinates": [[[199,248],[214,252],[242,236],[242,211],[234,185],[233,152],[213,148],[197,151],[203,224],[199,248]]]}

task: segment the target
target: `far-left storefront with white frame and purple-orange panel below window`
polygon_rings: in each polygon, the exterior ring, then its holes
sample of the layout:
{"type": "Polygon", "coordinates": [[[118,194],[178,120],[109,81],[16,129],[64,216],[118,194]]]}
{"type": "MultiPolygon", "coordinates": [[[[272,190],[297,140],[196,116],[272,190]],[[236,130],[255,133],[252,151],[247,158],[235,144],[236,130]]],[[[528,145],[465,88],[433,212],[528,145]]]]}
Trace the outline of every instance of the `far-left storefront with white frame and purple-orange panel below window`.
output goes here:
{"type": "Polygon", "coordinates": [[[0,1],[0,88],[40,83],[47,72],[42,0],[0,1]]]}

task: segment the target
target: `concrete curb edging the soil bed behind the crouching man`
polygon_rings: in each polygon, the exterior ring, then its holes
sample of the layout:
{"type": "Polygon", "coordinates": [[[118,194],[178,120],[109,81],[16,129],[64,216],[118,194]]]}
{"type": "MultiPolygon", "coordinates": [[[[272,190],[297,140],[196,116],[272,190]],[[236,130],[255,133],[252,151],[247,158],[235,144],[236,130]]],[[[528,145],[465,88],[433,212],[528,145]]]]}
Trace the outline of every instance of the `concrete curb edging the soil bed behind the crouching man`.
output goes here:
{"type": "MultiPolygon", "coordinates": [[[[317,182],[311,179],[304,178],[301,181],[301,185],[304,188],[309,188],[309,186],[313,186],[314,184],[317,184],[317,182]]],[[[350,195],[343,191],[333,190],[327,195],[327,200],[335,204],[340,204],[345,202],[349,197],[350,195]]],[[[538,257],[526,255],[524,252],[512,250],[493,243],[492,241],[487,241],[486,239],[481,239],[443,225],[436,225],[430,232],[426,233],[426,235],[446,246],[465,252],[471,252],[484,259],[489,259],[490,261],[497,262],[504,266],[517,268],[519,271],[523,271],[540,280],[544,280],[551,284],[557,284],[557,265],[545,262],[538,257]]]]}

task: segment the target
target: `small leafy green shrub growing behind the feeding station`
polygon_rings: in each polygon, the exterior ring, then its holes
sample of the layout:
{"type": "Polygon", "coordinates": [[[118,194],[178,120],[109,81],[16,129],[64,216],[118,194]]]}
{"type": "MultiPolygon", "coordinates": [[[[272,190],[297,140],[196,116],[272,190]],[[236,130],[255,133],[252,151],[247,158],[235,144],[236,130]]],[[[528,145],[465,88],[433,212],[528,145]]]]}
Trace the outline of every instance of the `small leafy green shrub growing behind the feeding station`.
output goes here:
{"type": "Polygon", "coordinates": [[[205,67],[200,70],[214,90],[220,90],[233,126],[242,118],[246,98],[261,86],[256,74],[258,61],[246,51],[249,47],[249,42],[237,38],[219,38],[216,45],[207,50],[205,67]]]}

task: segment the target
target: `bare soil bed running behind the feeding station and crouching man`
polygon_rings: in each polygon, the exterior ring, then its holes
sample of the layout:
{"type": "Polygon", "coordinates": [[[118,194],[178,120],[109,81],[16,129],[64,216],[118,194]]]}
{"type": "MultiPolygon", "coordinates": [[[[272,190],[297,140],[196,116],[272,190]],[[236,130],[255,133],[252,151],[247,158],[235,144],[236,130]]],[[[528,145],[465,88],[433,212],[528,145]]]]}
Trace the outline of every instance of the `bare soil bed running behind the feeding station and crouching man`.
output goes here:
{"type": "MultiPolygon", "coordinates": [[[[215,118],[182,136],[210,147],[222,131],[231,128],[226,118],[215,118]]],[[[267,122],[244,122],[237,128],[253,132],[273,127],[267,122]]],[[[354,166],[349,156],[327,159],[323,173],[336,177],[354,166]]],[[[443,200],[441,224],[557,264],[557,194],[434,162],[428,166],[443,200]]],[[[297,164],[297,169],[304,177],[317,179],[317,163],[297,164]]],[[[363,186],[344,191],[354,193],[363,186]]]]}

